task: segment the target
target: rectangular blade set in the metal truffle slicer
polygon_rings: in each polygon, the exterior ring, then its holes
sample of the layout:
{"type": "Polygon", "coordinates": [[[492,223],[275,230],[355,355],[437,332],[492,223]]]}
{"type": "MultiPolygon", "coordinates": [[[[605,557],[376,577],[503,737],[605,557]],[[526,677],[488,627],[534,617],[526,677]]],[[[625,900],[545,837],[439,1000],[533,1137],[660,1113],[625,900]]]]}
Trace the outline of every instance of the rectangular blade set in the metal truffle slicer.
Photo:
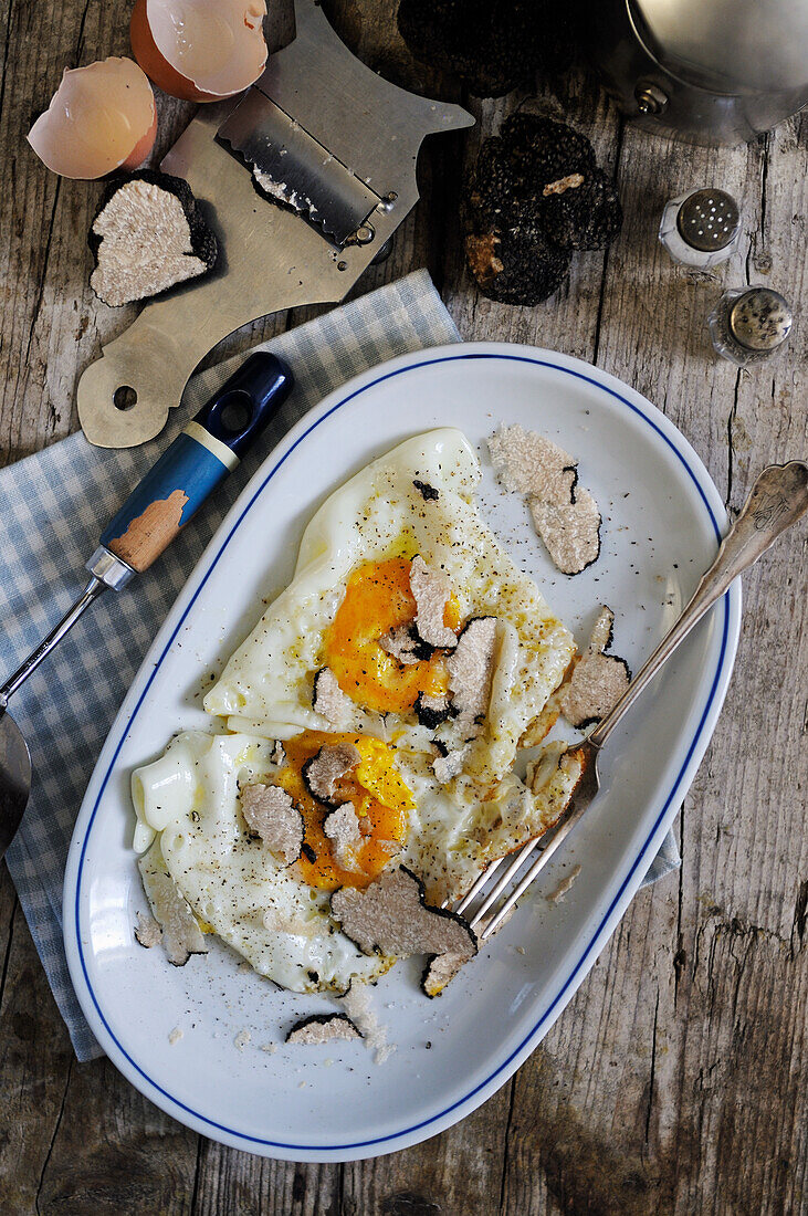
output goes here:
{"type": "Polygon", "coordinates": [[[250,89],[219,128],[261,193],[344,246],[382,199],[270,97],[250,89]]]}

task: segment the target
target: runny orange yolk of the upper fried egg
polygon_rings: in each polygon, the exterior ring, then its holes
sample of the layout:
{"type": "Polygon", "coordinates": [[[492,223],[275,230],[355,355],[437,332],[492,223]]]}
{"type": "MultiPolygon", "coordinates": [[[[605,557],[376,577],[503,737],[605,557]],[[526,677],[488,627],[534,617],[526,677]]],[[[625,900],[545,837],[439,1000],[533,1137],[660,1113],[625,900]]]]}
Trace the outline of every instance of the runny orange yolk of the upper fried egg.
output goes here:
{"type": "MultiPolygon", "coordinates": [[[[344,693],[379,714],[412,710],[419,693],[442,696],[448,676],[442,652],[417,663],[399,663],[379,641],[416,619],[407,557],[366,562],[348,581],[345,598],[326,636],[326,663],[344,693]]],[[[457,631],[459,607],[451,596],[443,624],[457,631]]]]}

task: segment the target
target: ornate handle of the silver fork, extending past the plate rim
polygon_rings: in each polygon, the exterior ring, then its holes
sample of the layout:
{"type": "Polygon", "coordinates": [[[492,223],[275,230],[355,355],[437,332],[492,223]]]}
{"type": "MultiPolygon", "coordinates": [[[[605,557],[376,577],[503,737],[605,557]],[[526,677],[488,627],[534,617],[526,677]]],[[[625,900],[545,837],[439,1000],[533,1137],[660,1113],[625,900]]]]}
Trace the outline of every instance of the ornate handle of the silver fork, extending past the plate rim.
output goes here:
{"type": "Polygon", "coordinates": [[[808,465],[792,460],[787,465],[769,465],[752,486],[744,510],[724,536],[716,561],[701,576],[686,608],[643,664],[631,685],[603,721],[588,736],[593,747],[601,747],[623,714],[631,709],[645,686],[654,679],[694,625],[724,595],[744,570],[774,544],[778,536],[796,524],[808,511],[808,465]]]}

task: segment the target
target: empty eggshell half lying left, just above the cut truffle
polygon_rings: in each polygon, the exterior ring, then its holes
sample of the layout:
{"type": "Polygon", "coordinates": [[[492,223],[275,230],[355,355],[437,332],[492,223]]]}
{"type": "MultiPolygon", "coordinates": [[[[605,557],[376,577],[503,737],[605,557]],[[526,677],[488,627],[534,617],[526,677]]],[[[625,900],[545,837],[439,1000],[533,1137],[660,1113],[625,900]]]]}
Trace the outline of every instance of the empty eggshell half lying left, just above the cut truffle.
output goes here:
{"type": "Polygon", "coordinates": [[[131,60],[111,56],[86,68],[66,68],[28,142],[53,173],[90,180],[136,169],[156,135],[151,84],[131,60]]]}

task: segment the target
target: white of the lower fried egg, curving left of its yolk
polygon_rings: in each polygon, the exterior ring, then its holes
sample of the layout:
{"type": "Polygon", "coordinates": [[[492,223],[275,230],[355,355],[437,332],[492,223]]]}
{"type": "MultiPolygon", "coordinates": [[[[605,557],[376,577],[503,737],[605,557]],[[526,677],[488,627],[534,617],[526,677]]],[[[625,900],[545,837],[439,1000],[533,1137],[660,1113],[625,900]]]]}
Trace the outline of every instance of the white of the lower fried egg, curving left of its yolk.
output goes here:
{"type": "Polygon", "coordinates": [[[315,890],[250,837],[238,783],[271,781],[272,745],[245,734],[183,731],[132,773],[141,849],[160,833],[169,874],[196,916],[261,975],[294,992],[345,991],[386,970],[339,931],[315,890]]]}

